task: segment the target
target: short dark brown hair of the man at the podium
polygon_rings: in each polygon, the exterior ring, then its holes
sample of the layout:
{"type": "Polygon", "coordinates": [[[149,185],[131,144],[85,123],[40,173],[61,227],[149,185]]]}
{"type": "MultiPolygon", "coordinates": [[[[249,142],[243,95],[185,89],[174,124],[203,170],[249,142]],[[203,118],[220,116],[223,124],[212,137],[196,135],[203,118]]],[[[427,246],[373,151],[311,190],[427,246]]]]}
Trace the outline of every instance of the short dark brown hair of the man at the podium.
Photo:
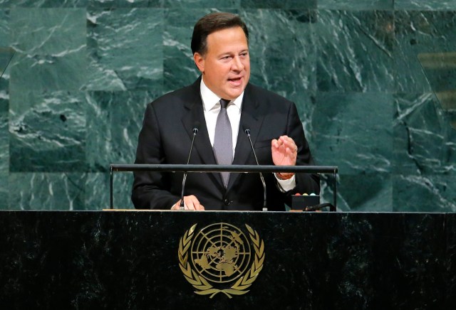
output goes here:
{"type": "Polygon", "coordinates": [[[211,13],[203,16],[195,23],[192,35],[192,53],[204,55],[207,52],[207,36],[225,28],[241,27],[249,43],[249,31],[242,19],[232,13],[211,13]]]}

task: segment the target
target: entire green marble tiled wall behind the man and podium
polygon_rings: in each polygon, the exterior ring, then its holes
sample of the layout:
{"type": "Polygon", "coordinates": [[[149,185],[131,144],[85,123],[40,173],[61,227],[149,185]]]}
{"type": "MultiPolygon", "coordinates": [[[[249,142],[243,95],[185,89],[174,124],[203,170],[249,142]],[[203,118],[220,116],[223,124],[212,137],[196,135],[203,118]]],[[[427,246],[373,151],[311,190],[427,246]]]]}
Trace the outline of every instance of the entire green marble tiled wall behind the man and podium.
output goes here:
{"type": "MultiPolygon", "coordinates": [[[[339,210],[456,211],[456,130],[417,59],[456,51],[456,0],[0,0],[0,208],[108,207],[109,164],[133,163],[147,102],[195,80],[192,27],[217,10],[339,167],[339,210]]],[[[115,174],[115,205],[131,181],[115,174]]]]}

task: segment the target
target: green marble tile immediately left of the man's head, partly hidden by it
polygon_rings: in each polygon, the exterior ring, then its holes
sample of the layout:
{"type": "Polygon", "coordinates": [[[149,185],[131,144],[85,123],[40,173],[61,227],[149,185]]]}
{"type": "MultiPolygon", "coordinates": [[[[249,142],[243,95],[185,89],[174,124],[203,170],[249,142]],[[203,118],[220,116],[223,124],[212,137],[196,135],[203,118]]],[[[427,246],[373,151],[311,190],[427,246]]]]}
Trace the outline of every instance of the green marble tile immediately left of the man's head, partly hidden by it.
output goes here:
{"type": "Polygon", "coordinates": [[[195,82],[200,72],[193,61],[193,26],[214,9],[170,9],[165,11],[163,33],[164,92],[171,92],[195,82]]]}

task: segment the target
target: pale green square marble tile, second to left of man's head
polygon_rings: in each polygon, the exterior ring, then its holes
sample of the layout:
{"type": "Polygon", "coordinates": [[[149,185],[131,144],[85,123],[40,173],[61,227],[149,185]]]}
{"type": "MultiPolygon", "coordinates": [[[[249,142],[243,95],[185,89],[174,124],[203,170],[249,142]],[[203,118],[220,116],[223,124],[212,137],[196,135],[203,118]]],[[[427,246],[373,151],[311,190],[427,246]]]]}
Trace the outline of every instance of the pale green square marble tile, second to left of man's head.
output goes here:
{"type": "Polygon", "coordinates": [[[88,13],[88,90],[162,90],[163,10],[88,13]]]}

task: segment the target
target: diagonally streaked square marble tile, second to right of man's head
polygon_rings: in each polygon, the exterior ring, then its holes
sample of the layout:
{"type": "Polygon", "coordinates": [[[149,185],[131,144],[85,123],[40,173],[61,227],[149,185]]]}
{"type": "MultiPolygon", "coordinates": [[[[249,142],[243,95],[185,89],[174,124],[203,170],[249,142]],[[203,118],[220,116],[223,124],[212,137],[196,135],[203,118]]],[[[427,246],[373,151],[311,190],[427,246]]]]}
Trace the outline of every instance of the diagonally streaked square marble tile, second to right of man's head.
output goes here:
{"type": "Polygon", "coordinates": [[[321,91],[391,92],[391,11],[318,11],[317,85],[321,91]]]}

